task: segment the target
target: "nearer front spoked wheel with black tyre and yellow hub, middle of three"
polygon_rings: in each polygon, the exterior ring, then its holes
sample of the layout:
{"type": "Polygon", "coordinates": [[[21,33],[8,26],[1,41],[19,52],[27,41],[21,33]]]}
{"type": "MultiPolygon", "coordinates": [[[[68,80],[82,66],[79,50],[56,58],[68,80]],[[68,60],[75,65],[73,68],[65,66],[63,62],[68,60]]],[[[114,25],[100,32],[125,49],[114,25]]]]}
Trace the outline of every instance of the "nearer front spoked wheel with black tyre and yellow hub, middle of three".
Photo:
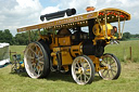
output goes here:
{"type": "Polygon", "coordinates": [[[86,56],[77,56],[72,64],[72,76],[78,84],[91,83],[94,78],[92,61],[86,56]]]}

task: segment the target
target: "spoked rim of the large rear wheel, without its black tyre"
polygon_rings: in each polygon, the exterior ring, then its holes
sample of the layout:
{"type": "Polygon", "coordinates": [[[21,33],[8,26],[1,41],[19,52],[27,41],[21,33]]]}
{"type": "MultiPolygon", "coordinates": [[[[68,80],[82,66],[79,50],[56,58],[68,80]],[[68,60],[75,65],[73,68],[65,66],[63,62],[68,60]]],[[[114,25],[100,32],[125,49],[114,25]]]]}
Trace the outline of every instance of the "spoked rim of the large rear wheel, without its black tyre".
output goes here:
{"type": "Polygon", "coordinates": [[[39,78],[43,71],[45,58],[37,43],[29,43],[24,54],[25,68],[29,77],[39,78]]]}

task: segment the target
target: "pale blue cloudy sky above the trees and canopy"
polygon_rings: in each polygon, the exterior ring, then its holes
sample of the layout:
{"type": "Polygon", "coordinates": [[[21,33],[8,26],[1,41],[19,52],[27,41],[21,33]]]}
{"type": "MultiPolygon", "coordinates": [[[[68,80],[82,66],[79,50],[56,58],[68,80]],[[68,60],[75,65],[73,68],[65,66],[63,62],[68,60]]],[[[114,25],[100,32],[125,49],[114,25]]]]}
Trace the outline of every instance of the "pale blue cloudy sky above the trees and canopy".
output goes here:
{"type": "Polygon", "coordinates": [[[42,23],[39,18],[42,14],[70,8],[81,14],[87,6],[116,8],[130,13],[124,31],[139,34],[139,0],[0,0],[0,30],[10,29],[13,36],[17,28],[42,23]]]}

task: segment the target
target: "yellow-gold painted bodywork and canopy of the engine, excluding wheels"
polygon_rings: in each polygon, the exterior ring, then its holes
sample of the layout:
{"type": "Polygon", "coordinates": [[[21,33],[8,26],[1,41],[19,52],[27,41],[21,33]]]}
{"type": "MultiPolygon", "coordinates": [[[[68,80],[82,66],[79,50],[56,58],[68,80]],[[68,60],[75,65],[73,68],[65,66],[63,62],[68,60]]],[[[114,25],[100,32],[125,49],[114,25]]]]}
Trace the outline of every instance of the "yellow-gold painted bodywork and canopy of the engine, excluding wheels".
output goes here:
{"type": "MultiPolygon", "coordinates": [[[[50,55],[52,57],[52,66],[58,66],[56,55],[59,54],[61,57],[62,67],[65,70],[68,70],[68,65],[72,65],[73,60],[78,55],[83,55],[83,42],[73,45],[72,39],[76,39],[75,36],[65,35],[65,32],[55,35],[54,30],[63,28],[65,31],[66,28],[74,28],[76,26],[88,26],[88,19],[91,18],[96,19],[96,25],[92,27],[92,32],[96,35],[96,38],[92,40],[93,45],[97,44],[98,40],[103,40],[106,45],[110,43],[111,39],[117,39],[111,31],[113,29],[113,26],[110,23],[118,22],[119,25],[119,22],[122,21],[129,21],[130,14],[119,9],[110,8],[100,11],[89,12],[86,14],[64,17],[56,21],[50,21],[38,25],[18,28],[17,32],[41,28],[53,30],[53,34],[50,35],[50,37],[52,38],[52,43],[49,44],[49,48],[51,50],[50,55]]],[[[121,27],[118,26],[118,28],[121,27]]],[[[118,30],[118,36],[121,37],[121,30],[118,30]]],[[[49,37],[45,35],[40,35],[40,39],[45,41],[50,40],[49,37]]],[[[100,66],[99,57],[96,57],[94,55],[88,56],[92,60],[93,64],[96,65],[96,71],[99,71],[100,69],[108,69],[106,66],[100,66]]]]}

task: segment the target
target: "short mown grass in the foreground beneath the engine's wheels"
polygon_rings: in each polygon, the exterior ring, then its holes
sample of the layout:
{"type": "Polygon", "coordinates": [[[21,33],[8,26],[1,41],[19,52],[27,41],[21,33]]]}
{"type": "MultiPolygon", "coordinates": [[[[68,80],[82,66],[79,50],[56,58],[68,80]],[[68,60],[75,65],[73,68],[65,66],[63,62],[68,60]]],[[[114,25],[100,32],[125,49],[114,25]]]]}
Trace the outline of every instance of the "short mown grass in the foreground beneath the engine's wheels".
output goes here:
{"type": "Polygon", "coordinates": [[[102,80],[96,76],[91,84],[78,86],[71,75],[52,73],[46,79],[31,79],[24,74],[10,74],[11,67],[0,69],[2,92],[138,92],[139,64],[122,63],[117,80],[102,80]]]}

